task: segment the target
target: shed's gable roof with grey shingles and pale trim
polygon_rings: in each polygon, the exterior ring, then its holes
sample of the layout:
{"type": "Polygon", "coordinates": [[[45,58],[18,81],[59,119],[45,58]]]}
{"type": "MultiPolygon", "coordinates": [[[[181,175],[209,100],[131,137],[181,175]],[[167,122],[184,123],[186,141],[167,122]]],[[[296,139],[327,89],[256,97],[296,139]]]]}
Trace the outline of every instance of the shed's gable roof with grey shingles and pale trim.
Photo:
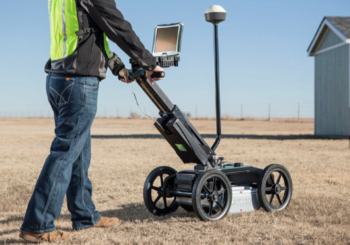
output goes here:
{"type": "Polygon", "coordinates": [[[323,18],[321,25],[318,27],[314,38],[312,39],[307,53],[314,56],[325,34],[331,29],[344,43],[350,43],[350,17],[330,17],[323,18]]]}

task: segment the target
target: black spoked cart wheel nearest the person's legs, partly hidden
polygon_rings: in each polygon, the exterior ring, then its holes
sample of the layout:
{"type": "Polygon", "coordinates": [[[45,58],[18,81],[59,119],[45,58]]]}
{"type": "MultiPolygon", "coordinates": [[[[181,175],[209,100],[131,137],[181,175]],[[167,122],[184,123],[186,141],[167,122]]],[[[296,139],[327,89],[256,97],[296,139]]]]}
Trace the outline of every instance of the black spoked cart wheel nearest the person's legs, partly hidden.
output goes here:
{"type": "Polygon", "coordinates": [[[144,202],[152,214],[163,216],[173,213],[179,208],[176,197],[165,197],[163,195],[163,183],[167,176],[176,174],[172,167],[157,167],[148,174],[144,184],[144,202]]]}

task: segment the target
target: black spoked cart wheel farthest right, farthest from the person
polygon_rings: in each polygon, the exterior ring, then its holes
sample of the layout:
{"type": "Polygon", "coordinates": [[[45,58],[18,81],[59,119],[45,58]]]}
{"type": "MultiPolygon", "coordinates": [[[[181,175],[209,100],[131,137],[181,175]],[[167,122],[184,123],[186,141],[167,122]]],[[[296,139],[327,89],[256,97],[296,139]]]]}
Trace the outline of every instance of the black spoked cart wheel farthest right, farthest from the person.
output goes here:
{"type": "Polygon", "coordinates": [[[282,165],[269,165],[260,175],[258,198],[266,211],[285,209],[293,193],[293,183],[288,170],[282,165]]]}

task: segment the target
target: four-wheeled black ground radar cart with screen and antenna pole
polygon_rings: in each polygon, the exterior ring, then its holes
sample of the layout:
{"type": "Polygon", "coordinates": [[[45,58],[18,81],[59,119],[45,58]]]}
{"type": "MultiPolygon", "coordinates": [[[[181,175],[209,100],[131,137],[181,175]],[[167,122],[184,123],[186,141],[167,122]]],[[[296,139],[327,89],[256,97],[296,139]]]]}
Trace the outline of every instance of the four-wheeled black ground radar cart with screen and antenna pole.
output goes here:
{"type": "MultiPolygon", "coordinates": [[[[195,163],[193,170],[176,172],[172,167],[157,167],[144,184],[144,202],[152,214],[162,216],[182,207],[194,211],[203,221],[216,221],[228,212],[285,209],[292,197],[293,185],[288,170],[272,164],[265,169],[224,162],[215,150],[221,140],[221,107],[218,69],[218,23],[225,20],[221,6],[204,13],[214,25],[216,79],[216,140],[209,146],[178,106],[170,102],[160,87],[146,79],[146,72],[132,62],[130,76],[160,110],[155,127],[174,148],[184,163],[195,163]]],[[[155,27],[153,55],[160,66],[178,66],[182,23],[155,27]]],[[[158,73],[155,76],[165,76],[158,73]]]]}

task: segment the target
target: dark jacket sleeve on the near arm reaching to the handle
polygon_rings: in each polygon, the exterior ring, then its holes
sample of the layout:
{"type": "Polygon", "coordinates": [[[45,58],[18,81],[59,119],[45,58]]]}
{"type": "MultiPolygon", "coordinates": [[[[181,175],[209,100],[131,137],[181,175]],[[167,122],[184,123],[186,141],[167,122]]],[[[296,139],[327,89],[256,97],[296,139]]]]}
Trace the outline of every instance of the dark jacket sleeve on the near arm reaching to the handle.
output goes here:
{"type": "Polygon", "coordinates": [[[153,55],[141,43],[130,22],[124,20],[114,0],[80,0],[78,2],[106,36],[129,57],[145,70],[155,69],[157,64],[153,55]]]}

